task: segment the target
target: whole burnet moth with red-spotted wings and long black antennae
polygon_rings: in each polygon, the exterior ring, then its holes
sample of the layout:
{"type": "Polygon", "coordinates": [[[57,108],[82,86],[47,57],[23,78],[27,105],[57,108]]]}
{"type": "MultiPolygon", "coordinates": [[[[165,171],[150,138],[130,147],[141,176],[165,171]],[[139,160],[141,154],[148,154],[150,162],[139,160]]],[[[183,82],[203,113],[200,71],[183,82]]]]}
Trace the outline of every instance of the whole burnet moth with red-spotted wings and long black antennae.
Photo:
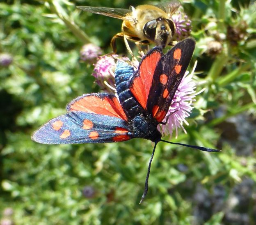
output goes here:
{"type": "Polygon", "coordinates": [[[109,93],[77,97],[66,106],[65,115],[41,126],[32,139],[43,144],[122,142],[135,137],[151,140],[155,145],[141,203],[148,191],[151,162],[158,142],[201,151],[219,151],[163,140],[157,128],[158,124],[165,124],[163,120],[190,63],[194,47],[192,38],[177,43],[167,54],[163,54],[160,47],[154,47],[142,58],[137,71],[119,61],[115,70],[118,97],[109,93]]]}

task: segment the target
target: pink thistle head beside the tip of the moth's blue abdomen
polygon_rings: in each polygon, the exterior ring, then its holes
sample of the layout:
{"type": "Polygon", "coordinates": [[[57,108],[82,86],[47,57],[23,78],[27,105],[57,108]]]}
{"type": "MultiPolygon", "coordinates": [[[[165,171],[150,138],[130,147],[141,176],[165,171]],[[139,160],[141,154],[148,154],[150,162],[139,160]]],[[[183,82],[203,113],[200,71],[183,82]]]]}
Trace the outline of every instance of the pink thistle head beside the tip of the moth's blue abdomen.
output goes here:
{"type": "Polygon", "coordinates": [[[116,89],[114,80],[114,71],[117,60],[129,62],[129,58],[121,57],[117,54],[105,55],[98,57],[97,63],[94,64],[92,75],[96,78],[96,83],[104,90],[114,92],[116,89]]]}

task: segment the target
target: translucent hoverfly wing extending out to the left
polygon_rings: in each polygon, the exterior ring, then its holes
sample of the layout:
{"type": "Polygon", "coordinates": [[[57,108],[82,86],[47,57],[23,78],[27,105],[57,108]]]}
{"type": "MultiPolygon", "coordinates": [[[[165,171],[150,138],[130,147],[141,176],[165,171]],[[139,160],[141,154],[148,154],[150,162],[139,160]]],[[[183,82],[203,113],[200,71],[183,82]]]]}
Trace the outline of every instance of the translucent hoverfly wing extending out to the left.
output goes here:
{"type": "Polygon", "coordinates": [[[77,8],[82,9],[83,11],[94,13],[94,14],[110,16],[110,17],[117,18],[120,20],[133,21],[132,18],[126,16],[128,13],[131,12],[129,9],[108,8],[108,7],[91,7],[91,6],[77,6],[77,8]]]}

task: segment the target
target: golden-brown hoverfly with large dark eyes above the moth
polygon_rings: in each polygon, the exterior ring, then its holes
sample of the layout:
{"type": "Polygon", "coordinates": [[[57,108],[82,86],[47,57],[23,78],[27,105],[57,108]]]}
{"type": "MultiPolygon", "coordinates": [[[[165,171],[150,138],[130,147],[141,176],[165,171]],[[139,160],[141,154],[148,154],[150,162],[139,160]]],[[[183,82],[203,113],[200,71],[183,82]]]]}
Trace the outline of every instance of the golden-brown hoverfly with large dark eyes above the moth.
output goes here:
{"type": "Polygon", "coordinates": [[[172,45],[171,39],[176,27],[171,16],[180,5],[180,2],[174,0],[156,6],[149,4],[130,6],[130,9],[89,6],[78,6],[78,8],[123,20],[121,32],[111,39],[111,47],[116,52],[116,38],[123,37],[128,51],[132,54],[127,39],[134,41],[136,45],[155,43],[162,48],[172,45]]]}

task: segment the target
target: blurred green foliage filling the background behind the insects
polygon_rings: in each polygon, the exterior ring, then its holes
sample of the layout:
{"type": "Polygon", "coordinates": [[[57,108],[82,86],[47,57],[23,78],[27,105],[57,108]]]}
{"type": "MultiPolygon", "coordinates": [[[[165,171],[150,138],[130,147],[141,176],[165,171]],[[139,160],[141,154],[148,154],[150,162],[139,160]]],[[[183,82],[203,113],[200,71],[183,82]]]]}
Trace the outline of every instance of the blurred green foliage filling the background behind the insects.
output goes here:
{"type": "MultiPolygon", "coordinates": [[[[9,66],[0,65],[1,224],[7,219],[15,224],[256,223],[253,2],[183,2],[197,41],[191,65],[198,60],[197,83],[205,90],[197,96],[187,135],[180,130],[173,141],[222,152],[159,143],[142,205],[151,142],[48,146],[31,141],[34,130],[65,113],[66,103],[99,91],[91,76],[93,66],[80,61],[80,48],[92,42],[109,53],[110,40],[120,31],[121,20],[75,6],[128,9],[136,4],[0,3],[0,53],[13,57],[9,66]],[[13,214],[5,213],[7,207],[13,214]]],[[[125,51],[121,40],[118,50],[125,51]]]]}

